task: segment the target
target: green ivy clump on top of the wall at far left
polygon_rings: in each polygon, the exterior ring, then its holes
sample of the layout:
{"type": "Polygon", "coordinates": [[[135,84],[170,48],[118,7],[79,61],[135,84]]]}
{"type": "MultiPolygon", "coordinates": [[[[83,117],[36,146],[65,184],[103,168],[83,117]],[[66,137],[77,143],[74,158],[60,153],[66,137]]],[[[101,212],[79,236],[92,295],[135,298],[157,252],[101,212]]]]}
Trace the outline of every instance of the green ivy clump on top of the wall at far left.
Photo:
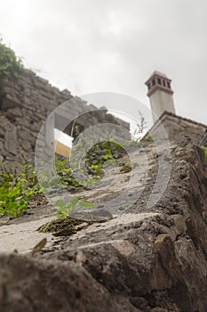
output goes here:
{"type": "Polygon", "coordinates": [[[3,44],[0,38],[0,82],[4,77],[20,77],[24,70],[21,59],[16,56],[14,51],[3,44]]]}

